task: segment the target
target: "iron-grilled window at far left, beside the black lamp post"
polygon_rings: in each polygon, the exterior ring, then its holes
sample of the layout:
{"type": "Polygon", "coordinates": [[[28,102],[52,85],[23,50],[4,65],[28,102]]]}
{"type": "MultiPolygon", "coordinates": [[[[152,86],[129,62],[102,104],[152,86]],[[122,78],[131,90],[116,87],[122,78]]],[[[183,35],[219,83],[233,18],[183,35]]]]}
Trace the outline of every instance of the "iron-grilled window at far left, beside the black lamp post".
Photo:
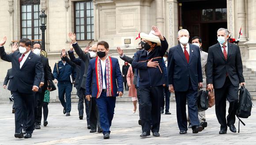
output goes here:
{"type": "Polygon", "coordinates": [[[41,39],[40,0],[21,0],[21,38],[41,39]]]}

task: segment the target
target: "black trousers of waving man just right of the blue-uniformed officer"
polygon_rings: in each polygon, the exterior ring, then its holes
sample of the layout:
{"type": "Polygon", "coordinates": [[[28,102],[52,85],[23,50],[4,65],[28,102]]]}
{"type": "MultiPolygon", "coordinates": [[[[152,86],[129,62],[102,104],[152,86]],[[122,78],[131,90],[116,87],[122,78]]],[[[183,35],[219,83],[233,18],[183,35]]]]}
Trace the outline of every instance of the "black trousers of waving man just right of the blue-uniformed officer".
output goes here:
{"type": "Polygon", "coordinates": [[[83,101],[85,102],[85,112],[86,112],[86,120],[87,125],[90,124],[90,112],[89,112],[89,101],[85,98],[85,89],[84,88],[76,88],[76,95],[79,98],[77,109],[79,116],[83,116],[83,101]]]}

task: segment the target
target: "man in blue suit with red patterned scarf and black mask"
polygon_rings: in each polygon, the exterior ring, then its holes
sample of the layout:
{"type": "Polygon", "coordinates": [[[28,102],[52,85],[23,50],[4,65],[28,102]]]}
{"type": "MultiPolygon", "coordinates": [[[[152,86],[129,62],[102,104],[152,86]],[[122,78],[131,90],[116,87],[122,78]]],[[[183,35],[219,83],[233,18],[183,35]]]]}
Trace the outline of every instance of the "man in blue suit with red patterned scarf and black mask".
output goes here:
{"type": "Polygon", "coordinates": [[[109,44],[98,42],[98,57],[90,60],[86,79],[86,98],[96,98],[104,139],[109,139],[116,97],[121,97],[124,91],[118,59],[109,57],[108,52],[109,44]]]}

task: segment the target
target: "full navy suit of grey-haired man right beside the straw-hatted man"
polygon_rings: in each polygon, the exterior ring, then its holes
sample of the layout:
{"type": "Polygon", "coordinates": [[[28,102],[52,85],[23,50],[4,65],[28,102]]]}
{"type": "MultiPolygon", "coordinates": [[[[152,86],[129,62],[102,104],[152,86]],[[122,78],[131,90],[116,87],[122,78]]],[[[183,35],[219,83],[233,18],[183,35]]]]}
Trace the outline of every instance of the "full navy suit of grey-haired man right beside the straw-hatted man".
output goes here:
{"type": "Polygon", "coordinates": [[[199,47],[188,43],[189,62],[185,58],[181,44],[169,49],[168,80],[173,85],[176,99],[177,121],[180,130],[188,130],[186,115],[186,100],[188,115],[192,128],[199,126],[196,96],[198,83],[203,82],[201,57],[199,47]]]}

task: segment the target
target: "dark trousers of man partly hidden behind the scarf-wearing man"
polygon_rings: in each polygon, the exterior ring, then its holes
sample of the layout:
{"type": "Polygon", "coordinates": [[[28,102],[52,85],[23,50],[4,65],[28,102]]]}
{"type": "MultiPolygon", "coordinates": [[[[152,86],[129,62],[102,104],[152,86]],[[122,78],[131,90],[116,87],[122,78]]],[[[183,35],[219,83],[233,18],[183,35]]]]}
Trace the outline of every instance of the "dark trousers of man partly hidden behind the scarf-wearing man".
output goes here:
{"type": "Polygon", "coordinates": [[[101,128],[99,113],[98,113],[98,106],[96,104],[96,98],[92,97],[89,101],[89,112],[90,112],[90,128],[96,129],[97,125],[98,128],[101,128]]]}

